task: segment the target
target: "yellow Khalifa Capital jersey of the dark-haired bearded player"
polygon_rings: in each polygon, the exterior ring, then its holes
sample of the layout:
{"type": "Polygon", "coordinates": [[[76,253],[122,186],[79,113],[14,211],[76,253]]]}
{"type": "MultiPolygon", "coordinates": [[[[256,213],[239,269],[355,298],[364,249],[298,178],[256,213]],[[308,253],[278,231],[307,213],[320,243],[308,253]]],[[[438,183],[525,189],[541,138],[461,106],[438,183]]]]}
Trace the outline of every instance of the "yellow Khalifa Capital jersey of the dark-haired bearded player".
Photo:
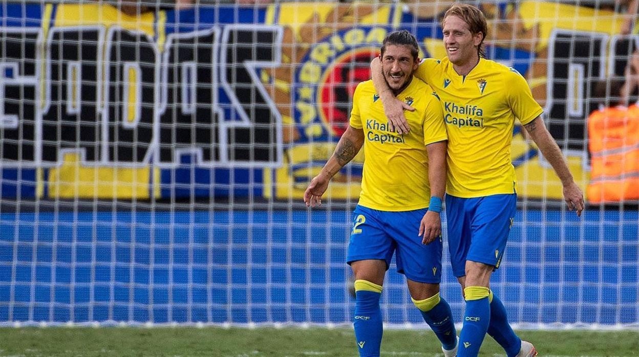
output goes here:
{"type": "Polygon", "coordinates": [[[372,80],[358,84],[353,95],[350,125],[364,130],[359,204],[380,211],[428,207],[426,145],[447,140],[442,105],[430,86],[413,77],[397,98],[415,108],[405,112],[410,132],[403,135],[390,130],[372,80]]]}

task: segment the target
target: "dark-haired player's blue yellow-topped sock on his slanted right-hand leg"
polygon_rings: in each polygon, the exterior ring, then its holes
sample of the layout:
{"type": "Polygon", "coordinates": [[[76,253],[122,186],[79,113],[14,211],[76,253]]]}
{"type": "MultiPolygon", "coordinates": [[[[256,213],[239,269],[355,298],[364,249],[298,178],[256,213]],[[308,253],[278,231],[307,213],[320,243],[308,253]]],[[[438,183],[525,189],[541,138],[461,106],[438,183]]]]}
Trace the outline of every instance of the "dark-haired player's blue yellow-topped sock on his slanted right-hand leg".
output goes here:
{"type": "Polygon", "coordinates": [[[425,300],[413,300],[419,312],[422,313],[424,321],[431,326],[433,332],[444,349],[454,349],[457,345],[457,333],[455,323],[450,312],[450,305],[440,297],[439,292],[425,300]]]}

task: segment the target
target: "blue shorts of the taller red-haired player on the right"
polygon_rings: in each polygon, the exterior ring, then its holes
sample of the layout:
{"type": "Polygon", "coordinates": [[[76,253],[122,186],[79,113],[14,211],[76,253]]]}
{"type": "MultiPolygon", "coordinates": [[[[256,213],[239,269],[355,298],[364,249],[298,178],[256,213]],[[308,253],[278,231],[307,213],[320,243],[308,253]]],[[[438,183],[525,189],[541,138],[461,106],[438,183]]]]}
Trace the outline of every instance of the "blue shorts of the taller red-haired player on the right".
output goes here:
{"type": "Polygon", "coordinates": [[[466,275],[466,261],[499,268],[517,210],[517,195],[463,199],[446,195],[446,222],[452,273],[466,275]]]}

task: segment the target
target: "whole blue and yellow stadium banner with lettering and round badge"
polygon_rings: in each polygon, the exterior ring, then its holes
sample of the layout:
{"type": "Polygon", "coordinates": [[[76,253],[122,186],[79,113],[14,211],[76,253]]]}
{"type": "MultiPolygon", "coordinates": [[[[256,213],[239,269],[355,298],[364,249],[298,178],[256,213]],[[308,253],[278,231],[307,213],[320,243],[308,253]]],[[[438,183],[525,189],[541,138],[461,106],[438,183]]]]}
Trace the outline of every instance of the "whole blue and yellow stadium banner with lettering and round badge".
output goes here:
{"type": "MultiPolygon", "coordinates": [[[[487,54],[528,79],[578,184],[590,179],[592,79],[623,71],[610,11],[483,4],[487,54]],[[613,60],[615,59],[615,60],[613,60]],[[549,85],[551,84],[551,85],[549,85]]],[[[384,36],[445,50],[441,10],[279,3],[129,16],[102,4],[0,8],[1,192],[17,199],[295,199],[348,125],[384,36]]],[[[625,51],[625,52],[624,52],[625,51]]],[[[522,199],[561,199],[550,165],[513,132],[522,199]]],[[[357,199],[362,156],[328,195],[357,199]]]]}

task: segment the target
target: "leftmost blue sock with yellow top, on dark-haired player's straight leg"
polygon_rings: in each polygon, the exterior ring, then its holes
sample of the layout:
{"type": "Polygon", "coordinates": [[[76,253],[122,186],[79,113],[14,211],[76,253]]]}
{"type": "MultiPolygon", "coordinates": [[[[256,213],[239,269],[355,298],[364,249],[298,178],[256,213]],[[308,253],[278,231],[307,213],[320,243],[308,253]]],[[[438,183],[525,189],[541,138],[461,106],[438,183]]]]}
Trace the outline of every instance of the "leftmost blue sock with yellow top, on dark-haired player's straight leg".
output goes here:
{"type": "Polygon", "coordinates": [[[383,324],[381,321],[381,285],[355,280],[355,338],[360,356],[379,356],[383,324]]]}

